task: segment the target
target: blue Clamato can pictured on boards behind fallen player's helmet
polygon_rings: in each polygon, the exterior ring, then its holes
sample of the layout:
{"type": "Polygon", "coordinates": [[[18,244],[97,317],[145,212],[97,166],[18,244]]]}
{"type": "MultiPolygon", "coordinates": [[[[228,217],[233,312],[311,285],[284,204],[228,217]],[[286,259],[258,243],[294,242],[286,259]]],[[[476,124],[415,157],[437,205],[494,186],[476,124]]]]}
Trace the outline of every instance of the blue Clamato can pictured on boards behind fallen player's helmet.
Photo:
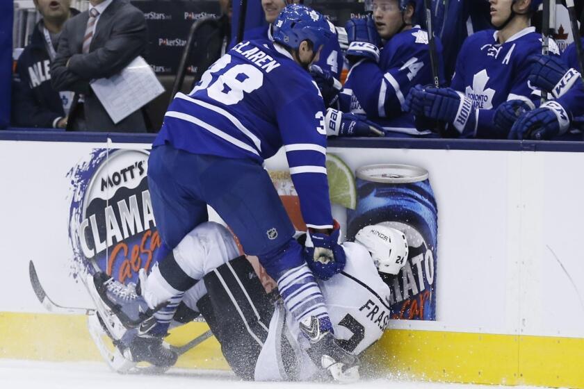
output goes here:
{"type": "Polygon", "coordinates": [[[397,275],[381,274],[391,288],[391,318],[436,320],[438,208],[428,171],[410,165],[357,169],[357,208],[348,210],[347,238],[382,224],[405,233],[409,254],[397,275]]]}

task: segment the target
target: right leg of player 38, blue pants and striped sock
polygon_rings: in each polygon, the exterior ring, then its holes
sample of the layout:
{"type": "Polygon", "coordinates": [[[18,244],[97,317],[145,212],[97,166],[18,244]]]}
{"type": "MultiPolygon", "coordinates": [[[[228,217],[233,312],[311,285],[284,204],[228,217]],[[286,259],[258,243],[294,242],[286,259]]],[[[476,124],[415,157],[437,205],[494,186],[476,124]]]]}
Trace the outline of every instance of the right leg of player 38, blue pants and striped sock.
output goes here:
{"type": "Polygon", "coordinates": [[[245,253],[258,256],[277,281],[284,306],[310,340],[312,354],[318,361],[326,359],[321,366],[334,374],[337,367],[357,365],[358,358],[334,340],[321,288],[293,239],[295,231],[266,170],[248,160],[214,158],[209,158],[208,169],[200,176],[202,197],[234,231],[245,253]],[[218,176],[223,185],[207,181],[212,177],[216,182],[218,176]]]}

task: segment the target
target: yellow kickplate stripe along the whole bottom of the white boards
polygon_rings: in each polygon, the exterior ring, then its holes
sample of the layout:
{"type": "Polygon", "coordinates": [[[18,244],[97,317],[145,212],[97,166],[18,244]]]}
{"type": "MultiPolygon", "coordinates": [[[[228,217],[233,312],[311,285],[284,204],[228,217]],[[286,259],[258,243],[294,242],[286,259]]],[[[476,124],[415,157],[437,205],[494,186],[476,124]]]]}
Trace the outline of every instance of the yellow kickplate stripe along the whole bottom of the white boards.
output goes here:
{"type": "MultiPolygon", "coordinates": [[[[209,327],[170,331],[186,344],[209,327]]],[[[83,315],[0,313],[0,358],[101,361],[83,315]]],[[[179,358],[178,367],[229,369],[215,338],[179,358]]],[[[388,330],[364,356],[364,372],[412,380],[584,389],[584,339],[446,331],[388,330]]]]}

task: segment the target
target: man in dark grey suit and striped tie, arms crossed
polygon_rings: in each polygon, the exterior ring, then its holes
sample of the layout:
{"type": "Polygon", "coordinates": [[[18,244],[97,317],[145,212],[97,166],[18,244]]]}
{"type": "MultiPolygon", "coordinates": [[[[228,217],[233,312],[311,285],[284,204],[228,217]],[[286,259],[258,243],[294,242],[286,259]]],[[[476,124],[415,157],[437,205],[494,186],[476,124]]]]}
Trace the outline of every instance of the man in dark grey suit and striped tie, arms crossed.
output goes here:
{"type": "Polygon", "coordinates": [[[122,0],[90,0],[89,10],[65,23],[51,64],[51,82],[56,90],[76,92],[67,129],[146,131],[141,110],[114,124],[89,85],[92,79],[121,72],[146,45],[143,13],[122,0]]]}

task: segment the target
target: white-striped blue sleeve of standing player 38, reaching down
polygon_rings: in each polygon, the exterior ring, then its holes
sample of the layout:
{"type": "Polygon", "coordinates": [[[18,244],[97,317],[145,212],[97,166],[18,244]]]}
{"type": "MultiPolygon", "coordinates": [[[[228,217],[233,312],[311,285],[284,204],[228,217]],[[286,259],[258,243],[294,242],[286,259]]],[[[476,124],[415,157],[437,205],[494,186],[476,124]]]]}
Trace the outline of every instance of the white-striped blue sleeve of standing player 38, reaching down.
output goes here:
{"type": "Polygon", "coordinates": [[[325,105],[318,88],[298,94],[277,110],[277,122],[308,227],[332,229],[326,168],[325,105]]]}

